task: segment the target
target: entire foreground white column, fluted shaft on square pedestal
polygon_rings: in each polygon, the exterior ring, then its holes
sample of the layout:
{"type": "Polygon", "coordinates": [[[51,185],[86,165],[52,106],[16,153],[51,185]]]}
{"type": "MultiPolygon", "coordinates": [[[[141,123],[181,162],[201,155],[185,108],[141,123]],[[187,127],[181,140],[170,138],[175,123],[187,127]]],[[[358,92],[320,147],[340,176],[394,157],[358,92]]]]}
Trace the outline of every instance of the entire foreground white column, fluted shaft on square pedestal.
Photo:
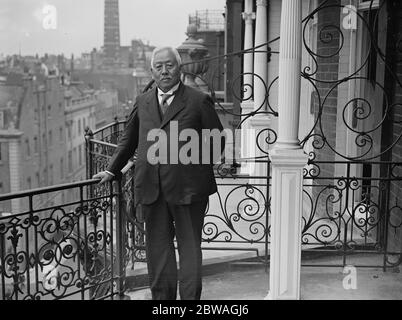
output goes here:
{"type": "Polygon", "coordinates": [[[270,291],[267,299],[300,299],[303,167],[298,140],[302,2],[282,0],[278,142],[272,163],[270,291]]]}

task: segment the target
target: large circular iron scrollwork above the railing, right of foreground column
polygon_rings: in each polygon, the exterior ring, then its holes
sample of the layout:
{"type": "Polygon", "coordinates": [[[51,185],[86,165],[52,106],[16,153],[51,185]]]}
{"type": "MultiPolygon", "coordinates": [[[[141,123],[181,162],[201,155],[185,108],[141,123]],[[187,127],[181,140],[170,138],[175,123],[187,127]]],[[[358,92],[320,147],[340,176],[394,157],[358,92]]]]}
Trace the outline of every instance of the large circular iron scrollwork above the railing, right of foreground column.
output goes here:
{"type": "MultiPolygon", "coordinates": [[[[374,15],[374,21],[378,20],[380,12],[384,10],[384,3],[384,1],[380,1],[379,8],[376,11],[371,9],[371,3],[370,14],[372,12],[372,15],[374,15]]],[[[324,148],[328,148],[328,152],[333,152],[336,156],[346,160],[368,161],[378,159],[389,152],[402,137],[402,132],[400,132],[395,135],[393,141],[389,142],[388,146],[383,147],[381,150],[375,147],[377,143],[376,139],[378,139],[376,136],[378,136],[381,128],[387,125],[390,115],[398,106],[389,101],[387,91],[380,83],[375,79],[370,79],[368,73],[364,75],[365,70],[370,68],[371,55],[376,53],[386,66],[386,73],[390,74],[399,85],[402,84],[398,81],[398,77],[388,65],[385,55],[378,45],[373,25],[369,23],[364,14],[360,11],[353,12],[353,14],[357,19],[357,25],[362,29],[361,32],[365,31],[367,33],[367,48],[370,49],[363,53],[362,59],[357,60],[355,68],[350,69],[346,74],[345,72],[329,72],[328,76],[325,76],[326,72],[324,69],[320,69],[320,66],[325,63],[330,63],[331,61],[337,62],[342,51],[348,49],[348,47],[345,46],[345,30],[337,23],[332,23],[330,20],[328,22],[319,21],[317,48],[313,48],[308,40],[309,26],[317,16],[325,15],[325,12],[329,11],[343,10],[345,7],[345,5],[337,4],[329,0],[321,1],[319,6],[303,20],[303,43],[304,48],[311,58],[312,65],[304,68],[302,76],[313,86],[317,107],[315,123],[310,132],[302,139],[302,145],[307,146],[311,144],[316,150],[315,152],[318,153],[324,148]],[[338,77],[335,77],[336,75],[338,75],[338,77]],[[373,102],[364,96],[351,96],[347,99],[341,113],[342,122],[337,122],[336,130],[337,132],[345,131],[346,134],[351,137],[350,142],[353,141],[355,151],[353,153],[345,152],[342,145],[336,145],[335,141],[329,138],[332,134],[329,130],[332,130],[332,127],[326,127],[324,114],[329,112],[327,110],[331,108],[331,99],[336,95],[338,90],[345,90],[344,86],[349,84],[353,84],[358,88],[367,82],[371,82],[376,91],[383,92],[384,112],[378,116],[372,105],[373,102]],[[370,127],[367,127],[368,123],[371,123],[370,127]],[[319,139],[319,143],[317,143],[317,139],[319,139]]],[[[398,48],[398,45],[396,47],[398,48]]],[[[395,121],[398,120],[394,120],[394,123],[396,123],[395,121]]]]}

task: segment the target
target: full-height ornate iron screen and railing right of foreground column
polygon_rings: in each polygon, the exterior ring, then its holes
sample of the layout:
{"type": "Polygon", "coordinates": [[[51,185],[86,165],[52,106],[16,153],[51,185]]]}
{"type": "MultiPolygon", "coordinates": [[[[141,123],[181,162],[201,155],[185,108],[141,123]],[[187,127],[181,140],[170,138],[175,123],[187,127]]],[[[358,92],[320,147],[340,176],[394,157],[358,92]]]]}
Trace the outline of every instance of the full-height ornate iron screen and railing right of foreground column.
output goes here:
{"type": "MultiPolygon", "coordinates": [[[[302,244],[308,250],[341,253],[341,265],[346,265],[353,253],[379,253],[382,258],[376,266],[386,269],[402,262],[400,248],[391,245],[402,226],[402,208],[394,195],[402,189],[401,163],[392,162],[389,156],[400,143],[402,132],[394,132],[388,141],[381,136],[386,134],[384,128],[399,123],[393,113],[401,106],[392,102],[387,83],[373,76],[373,66],[381,61],[387,81],[399,88],[402,83],[378,42],[376,25],[386,10],[386,1],[379,1],[378,6],[375,1],[368,2],[367,10],[352,12],[358,33],[365,34],[367,43],[355,66],[348,59],[348,70],[341,68],[342,57],[356,33],[345,29],[339,17],[342,11],[351,12],[350,7],[323,0],[303,20],[303,42],[310,64],[302,70],[302,78],[311,88],[312,120],[301,141],[309,154],[304,169],[302,244]],[[331,17],[336,17],[333,22],[331,17]],[[313,25],[317,29],[312,42],[313,25]],[[376,105],[375,95],[381,97],[382,109],[376,105]],[[339,143],[337,135],[347,137],[348,142],[339,143]]],[[[400,52],[399,45],[395,50],[400,52]]]]}

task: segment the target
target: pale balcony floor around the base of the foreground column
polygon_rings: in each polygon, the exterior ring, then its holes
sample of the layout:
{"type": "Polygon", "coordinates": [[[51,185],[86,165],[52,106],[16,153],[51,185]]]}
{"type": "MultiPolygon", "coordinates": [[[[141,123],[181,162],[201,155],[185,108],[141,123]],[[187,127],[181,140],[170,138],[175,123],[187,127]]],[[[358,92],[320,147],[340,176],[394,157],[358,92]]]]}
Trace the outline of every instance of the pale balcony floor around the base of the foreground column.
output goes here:
{"type": "MultiPolygon", "coordinates": [[[[360,255],[356,262],[377,263],[375,257],[360,255]]],[[[333,264],[339,258],[303,259],[303,264],[333,264]]],[[[381,268],[357,268],[357,288],[346,290],[341,267],[301,269],[301,300],[401,300],[402,274],[399,268],[383,272],[381,268]]],[[[262,265],[247,263],[221,264],[213,271],[206,269],[202,300],[263,300],[269,276],[262,265]]],[[[150,300],[149,289],[128,291],[132,300],[150,300]]]]}

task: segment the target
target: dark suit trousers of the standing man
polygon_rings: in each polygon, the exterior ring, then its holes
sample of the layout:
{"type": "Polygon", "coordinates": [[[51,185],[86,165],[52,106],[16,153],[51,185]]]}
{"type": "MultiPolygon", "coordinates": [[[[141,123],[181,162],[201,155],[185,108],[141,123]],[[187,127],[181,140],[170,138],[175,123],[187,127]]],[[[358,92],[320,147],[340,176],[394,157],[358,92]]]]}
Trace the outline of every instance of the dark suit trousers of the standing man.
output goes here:
{"type": "Polygon", "coordinates": [[[153,300],[199,300],[202,290],[201,235],[208,198],[188,205],[167,203],[163,194],[142,205],[149,284],[153,300]],[[174,238],[179,253],[177,270],[174,238]]]}

